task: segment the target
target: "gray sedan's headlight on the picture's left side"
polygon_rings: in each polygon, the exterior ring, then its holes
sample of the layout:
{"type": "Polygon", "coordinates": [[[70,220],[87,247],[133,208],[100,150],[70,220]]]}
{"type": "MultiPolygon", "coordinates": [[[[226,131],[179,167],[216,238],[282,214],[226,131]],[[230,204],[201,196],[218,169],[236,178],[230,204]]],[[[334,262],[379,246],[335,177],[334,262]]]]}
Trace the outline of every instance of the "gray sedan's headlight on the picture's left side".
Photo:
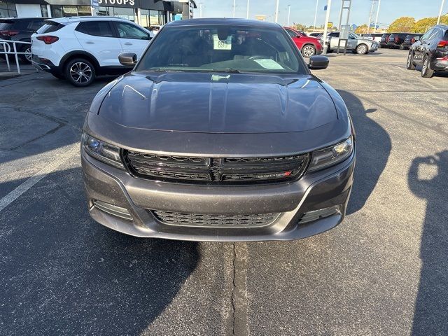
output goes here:
{"type": "Polygon", "coordinates": [[[83,133],[82,146],[92,158],[116,168],[125,169],[120,158],[120,148],[83,133]]]}

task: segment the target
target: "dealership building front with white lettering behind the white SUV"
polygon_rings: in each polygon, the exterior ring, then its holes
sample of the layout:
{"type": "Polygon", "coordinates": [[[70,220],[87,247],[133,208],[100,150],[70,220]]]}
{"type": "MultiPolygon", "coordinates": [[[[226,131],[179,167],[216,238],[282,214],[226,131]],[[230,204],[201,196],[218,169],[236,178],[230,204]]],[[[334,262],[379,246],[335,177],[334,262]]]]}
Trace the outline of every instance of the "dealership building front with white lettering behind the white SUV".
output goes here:
{"type": "Polygon", "coordinates": [[[178,1],[164,0],[0,0],[0,18],[62,18],[110,15],[136,22],[142,27],[165,25],[179,13],[178,1]]]}

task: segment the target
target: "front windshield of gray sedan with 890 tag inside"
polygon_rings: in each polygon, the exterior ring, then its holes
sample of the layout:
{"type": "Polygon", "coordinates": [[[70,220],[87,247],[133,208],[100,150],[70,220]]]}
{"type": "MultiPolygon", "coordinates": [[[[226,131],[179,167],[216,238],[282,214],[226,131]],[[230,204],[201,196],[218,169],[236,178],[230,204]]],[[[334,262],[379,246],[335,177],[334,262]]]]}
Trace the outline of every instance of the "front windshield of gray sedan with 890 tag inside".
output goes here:
{"type": "Polygon", "coordinates": [[[136,70],[306,73],[287,38],[282,29],[165,27],[136,70]]]}

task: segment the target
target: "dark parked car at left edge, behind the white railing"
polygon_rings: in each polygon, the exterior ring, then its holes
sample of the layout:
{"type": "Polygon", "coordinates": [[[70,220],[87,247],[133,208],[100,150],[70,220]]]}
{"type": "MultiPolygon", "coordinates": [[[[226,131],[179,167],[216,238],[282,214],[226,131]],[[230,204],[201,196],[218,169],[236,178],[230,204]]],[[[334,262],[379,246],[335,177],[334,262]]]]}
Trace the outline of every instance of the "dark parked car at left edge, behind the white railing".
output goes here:
{"type": "MultiPolygon", "coordinates": [[[[31,34],[34,34],[37,29],[44,25],[45,19],[46,18],[0,19],[0,40],[31,42],[31,34]]],[[[2,45],[0,45],[0,48],[3,48],[2,45]]],[[[27,52],[25,55],[19,55],[22,62],[31,63],[30,44],[16,43],[15,48],[18,52],[27,52]]],[[[10,43],[10,51],[13,50],[13,43],[10,43]]]]}

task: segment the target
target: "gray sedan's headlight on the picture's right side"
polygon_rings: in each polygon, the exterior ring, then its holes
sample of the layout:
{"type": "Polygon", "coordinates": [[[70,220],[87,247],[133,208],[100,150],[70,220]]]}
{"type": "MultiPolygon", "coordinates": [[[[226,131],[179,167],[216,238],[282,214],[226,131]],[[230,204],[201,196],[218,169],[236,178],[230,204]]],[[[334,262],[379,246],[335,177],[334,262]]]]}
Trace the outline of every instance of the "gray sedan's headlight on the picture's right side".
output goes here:
{"type": "Polygon", "coordinates": [[[353,137],[349,137],[345,141],[339,142],[335,146],[323,148],[311,153],[311,162],[309,164],[309,172],[323,169],[339,162],[344,161],[353,152],[353,137]]]}

